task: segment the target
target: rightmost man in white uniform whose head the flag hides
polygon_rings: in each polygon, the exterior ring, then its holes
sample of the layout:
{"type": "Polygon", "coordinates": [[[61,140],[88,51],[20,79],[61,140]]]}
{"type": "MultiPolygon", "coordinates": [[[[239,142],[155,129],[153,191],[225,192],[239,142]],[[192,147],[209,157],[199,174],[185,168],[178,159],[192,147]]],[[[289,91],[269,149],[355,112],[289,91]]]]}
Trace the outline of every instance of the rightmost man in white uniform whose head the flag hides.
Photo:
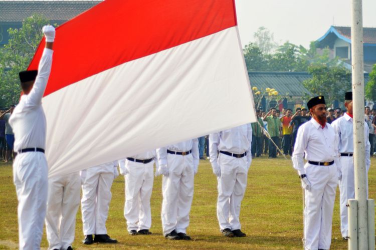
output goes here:
{"type": "Polygon", "coordinates": [[[217,217],[224,236],[244,237],[240,205],[252,161],[252,126],[244,124],[209,135],[210,162],[218,177],[217,217]],[[218,153],[219,152],[219,153],[218,153]]]}

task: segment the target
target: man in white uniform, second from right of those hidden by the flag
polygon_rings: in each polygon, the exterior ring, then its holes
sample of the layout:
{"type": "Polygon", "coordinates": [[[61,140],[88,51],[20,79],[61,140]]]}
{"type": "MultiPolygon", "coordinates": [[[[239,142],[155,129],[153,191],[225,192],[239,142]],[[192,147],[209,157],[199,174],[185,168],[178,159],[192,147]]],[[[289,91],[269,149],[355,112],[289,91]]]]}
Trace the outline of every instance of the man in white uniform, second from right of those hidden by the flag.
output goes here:
{"type": "Polygon", "coordinates": [[[190,224],[194,175],[199,166],[197,138],[156,150],[159,166],[155,175],[163,174],[162,227],[167,239],[186,239],[190,224]]]}

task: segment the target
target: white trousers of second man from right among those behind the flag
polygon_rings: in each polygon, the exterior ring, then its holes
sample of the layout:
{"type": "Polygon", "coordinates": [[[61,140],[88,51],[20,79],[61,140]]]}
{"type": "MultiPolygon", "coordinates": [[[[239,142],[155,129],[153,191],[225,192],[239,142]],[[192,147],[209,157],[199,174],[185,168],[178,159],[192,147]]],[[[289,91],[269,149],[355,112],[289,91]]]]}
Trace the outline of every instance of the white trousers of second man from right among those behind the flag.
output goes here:
{"type": "Polygon", "coordinates": [[[192,153],[175,155],[167,153],[168,176],[162,183],[162,228],[166,235],[172,230],[186,233],[190,224],[190,211],[194,189],[192,153]]]}

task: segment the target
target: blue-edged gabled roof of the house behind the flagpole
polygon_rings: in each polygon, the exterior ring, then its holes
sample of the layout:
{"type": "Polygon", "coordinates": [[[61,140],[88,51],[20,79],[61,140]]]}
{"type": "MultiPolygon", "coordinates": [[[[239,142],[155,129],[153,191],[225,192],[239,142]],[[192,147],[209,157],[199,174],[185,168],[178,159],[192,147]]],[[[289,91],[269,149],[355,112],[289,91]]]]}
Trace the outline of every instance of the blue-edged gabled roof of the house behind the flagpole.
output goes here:
{"type": "MultiPolygon", "coordinates": [[[[337,38],[351,43],[351,27],[330,26],[328,31],[317,39],[318,47],[329,46],[333,48],[334,41],[337,38]]],[[[364,45],[376,45],[376,28],[363,27],[363,43],[364,45]]]]}

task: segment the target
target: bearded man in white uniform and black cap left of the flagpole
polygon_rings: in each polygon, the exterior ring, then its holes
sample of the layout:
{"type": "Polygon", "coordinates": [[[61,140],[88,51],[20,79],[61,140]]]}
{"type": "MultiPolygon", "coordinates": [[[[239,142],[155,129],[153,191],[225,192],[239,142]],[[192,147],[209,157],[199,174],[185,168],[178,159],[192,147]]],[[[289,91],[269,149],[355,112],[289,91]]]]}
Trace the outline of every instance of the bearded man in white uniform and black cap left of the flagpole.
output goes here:
{"type": "Polygon", "coordinates": [[[303,242],[305,249],[329,249],[335,190],[341,178],[338,136],[326,122],[324,96],[310,99],[307,106],[312,119],[299,127],[292,154],[305,189],[303,242]]]}

